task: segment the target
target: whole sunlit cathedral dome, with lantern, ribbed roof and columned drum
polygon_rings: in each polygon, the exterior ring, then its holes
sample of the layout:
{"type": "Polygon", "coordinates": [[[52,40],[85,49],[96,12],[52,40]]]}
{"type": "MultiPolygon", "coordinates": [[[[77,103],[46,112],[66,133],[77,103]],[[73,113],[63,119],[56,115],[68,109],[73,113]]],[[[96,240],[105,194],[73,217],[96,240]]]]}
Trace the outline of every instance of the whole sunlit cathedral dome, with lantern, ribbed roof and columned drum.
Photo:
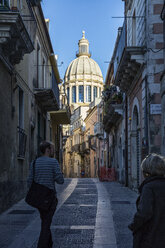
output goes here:
{"type": "Polygon", "coordinates": [[[91,59],[89,41],[82,38],[78,42],[77,58],[68,66],[65,72],[64,83],[69,105],[89,106],[95,98],[101,97],[103,90],[103,76],[99,65],[91,59]]]}

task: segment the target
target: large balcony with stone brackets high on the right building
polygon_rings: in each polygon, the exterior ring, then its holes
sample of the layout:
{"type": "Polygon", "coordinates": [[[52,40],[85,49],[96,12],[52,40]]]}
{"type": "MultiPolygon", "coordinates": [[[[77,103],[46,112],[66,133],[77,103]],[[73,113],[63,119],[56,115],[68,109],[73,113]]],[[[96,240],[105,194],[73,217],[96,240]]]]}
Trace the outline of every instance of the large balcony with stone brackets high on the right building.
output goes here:
{"type": "Polygon", "coordinates": [[[123,24],[114,57],[114,82],[123,92],[128,92],[144,65],[145,47],[127,46],[126,25],[123,24]]]}

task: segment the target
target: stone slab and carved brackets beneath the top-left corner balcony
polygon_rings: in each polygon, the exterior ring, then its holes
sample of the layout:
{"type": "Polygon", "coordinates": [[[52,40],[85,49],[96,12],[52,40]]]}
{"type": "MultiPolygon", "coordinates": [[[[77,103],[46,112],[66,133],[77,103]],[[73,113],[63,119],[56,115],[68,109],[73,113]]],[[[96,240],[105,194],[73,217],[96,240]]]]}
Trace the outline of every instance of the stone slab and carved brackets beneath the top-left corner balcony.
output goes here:
{"type": "Polygon", "coordinates": [[[33,51],[33,43],[18,12],[1,13],[0,46],[11,65],[18,64],[24,54],[33,51]]]}

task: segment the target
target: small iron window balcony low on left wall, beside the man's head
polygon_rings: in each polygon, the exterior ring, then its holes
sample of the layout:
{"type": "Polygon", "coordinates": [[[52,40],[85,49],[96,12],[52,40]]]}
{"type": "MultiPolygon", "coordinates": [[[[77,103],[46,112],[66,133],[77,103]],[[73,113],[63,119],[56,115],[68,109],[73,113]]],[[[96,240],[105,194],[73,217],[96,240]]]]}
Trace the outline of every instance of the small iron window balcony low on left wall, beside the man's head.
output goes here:
{"type": "Polygon", "coordinates": [[[27,135],[25,134],[25,130],[17,127],[18,131],[18,158],[24,159],[25,157],[25,151],[26,151],[26,139],[27,135]]]}

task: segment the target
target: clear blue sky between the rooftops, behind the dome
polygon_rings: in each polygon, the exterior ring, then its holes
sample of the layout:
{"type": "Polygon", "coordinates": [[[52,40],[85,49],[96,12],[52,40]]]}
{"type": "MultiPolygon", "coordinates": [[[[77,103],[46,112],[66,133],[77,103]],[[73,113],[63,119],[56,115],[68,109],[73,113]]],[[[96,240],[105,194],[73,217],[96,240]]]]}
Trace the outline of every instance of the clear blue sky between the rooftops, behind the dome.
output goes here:
{"type": "Polygon", "coordinates": [[[54,53],[58,55],[61,79],[76,58],[82,31],[89,41],[89,50],[105,81],[118,28],[123,25],[122,0],[42,0],[45,18],[50,19],[49,32],[54,53]]]}

